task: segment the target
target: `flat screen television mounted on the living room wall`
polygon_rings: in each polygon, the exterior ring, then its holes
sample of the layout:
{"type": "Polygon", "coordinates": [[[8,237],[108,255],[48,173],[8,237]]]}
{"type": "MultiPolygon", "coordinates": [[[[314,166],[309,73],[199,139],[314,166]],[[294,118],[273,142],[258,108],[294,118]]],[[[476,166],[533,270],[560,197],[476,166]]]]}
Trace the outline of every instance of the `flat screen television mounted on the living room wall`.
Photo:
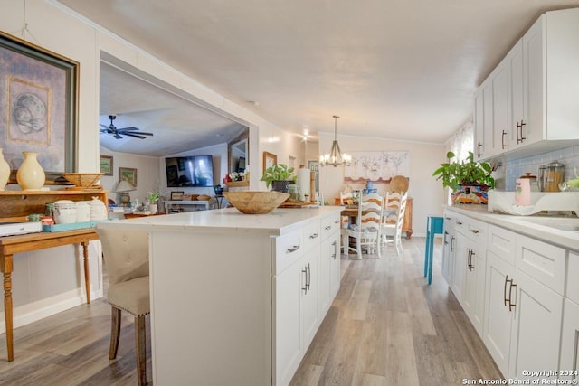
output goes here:
{"type": "Polygon", "coordinates": [[[211,155],[166,157],[166,186],[169,188],[214,186],[211,155]]]}

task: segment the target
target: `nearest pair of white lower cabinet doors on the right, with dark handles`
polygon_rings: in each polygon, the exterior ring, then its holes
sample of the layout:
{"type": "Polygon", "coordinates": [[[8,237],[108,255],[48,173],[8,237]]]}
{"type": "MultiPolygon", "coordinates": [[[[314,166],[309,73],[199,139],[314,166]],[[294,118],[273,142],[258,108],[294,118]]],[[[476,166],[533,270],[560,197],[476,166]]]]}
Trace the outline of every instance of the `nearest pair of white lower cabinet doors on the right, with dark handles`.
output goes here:
{"type": "Polygon", "coordinates": [[[556,369],[563,297],[492,250],[487,261],[483,341],[499,370],[527,378],[524,370],[556,369]]]}

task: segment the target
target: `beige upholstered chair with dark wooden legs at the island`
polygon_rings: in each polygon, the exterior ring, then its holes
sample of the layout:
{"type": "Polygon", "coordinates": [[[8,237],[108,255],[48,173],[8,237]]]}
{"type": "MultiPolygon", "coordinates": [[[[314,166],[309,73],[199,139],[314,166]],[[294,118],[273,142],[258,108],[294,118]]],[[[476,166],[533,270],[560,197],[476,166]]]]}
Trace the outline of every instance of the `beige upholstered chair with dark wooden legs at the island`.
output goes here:
{"type": "Polygon", "coordinates": [[[109,359],[119,349],[121,311],[135,318],[138,384],[147,384],[145,316],[150,314],[148,286],[148,232],[96,228],[109,277],[111,309],[109,359]]]}

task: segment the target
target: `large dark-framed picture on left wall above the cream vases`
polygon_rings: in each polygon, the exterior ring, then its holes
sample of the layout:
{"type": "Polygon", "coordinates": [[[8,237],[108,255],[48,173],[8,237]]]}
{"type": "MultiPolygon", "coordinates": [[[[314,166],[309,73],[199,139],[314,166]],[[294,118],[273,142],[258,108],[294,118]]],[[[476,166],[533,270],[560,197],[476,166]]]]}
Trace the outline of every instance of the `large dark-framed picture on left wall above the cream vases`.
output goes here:
{"type": "MultiPolygon", "coordinates": [[[[76,172],[79,63],[0,32],[0,137],[15,172],[38,153],[46,184],[76,172]]],[[[56,181],[59,180],[60,181],[56,181]]]]}

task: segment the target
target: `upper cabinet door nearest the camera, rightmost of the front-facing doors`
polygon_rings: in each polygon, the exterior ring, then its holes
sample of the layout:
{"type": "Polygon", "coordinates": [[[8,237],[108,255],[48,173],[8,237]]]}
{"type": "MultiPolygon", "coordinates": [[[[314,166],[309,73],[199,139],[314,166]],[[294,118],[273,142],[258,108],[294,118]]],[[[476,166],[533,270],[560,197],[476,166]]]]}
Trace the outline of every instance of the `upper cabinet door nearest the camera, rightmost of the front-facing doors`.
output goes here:
{"type": "Polygon", "coordinates": [[[523,36],[523,65],[527,125],[523,127],[524,144],[531,144],[545,133],[545,15],[539,17],[523,36]]]}

